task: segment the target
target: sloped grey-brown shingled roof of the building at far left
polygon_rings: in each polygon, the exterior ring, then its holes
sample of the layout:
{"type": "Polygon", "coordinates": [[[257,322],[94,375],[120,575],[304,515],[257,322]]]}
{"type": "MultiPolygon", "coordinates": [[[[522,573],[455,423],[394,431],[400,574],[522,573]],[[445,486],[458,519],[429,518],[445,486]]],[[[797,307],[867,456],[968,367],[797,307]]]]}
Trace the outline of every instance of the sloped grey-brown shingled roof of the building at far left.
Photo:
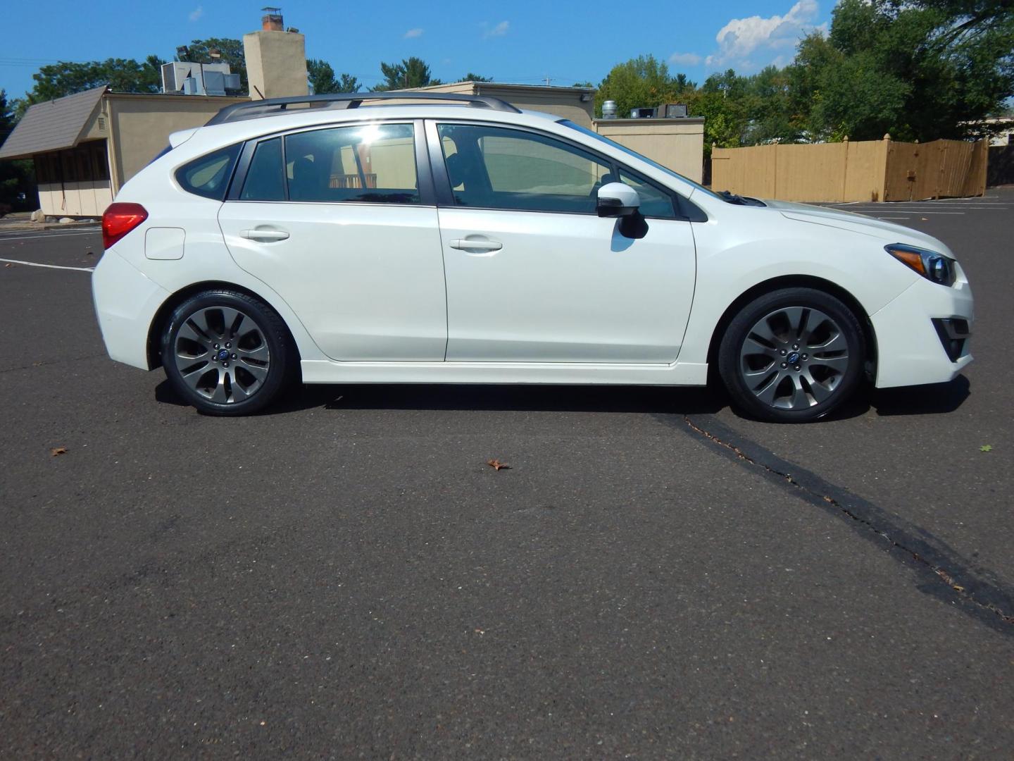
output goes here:
{"type": "Polygon", "coordinates": [[[25,158],[32,153],[73,148],[105,90],[103,84],[29,107],[0,146],[0,159],[25,158]]]}

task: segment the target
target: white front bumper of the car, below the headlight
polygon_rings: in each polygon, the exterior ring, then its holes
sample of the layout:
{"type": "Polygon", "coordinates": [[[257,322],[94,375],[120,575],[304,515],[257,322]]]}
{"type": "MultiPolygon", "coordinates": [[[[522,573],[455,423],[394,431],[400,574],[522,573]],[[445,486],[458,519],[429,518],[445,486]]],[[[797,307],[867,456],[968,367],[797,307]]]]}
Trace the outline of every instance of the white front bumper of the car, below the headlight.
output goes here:
{"type": "Polygon", "coordinates": [[[870,321],[877,341],[877,388],[946,383],[971,362],[966,336],[960,346],[943,341],[954,325],[964,329],[959,321],[971,328],[971,289],[963,277],[953,288],[920,278],[870,321]],[[941,325],[947,329],[941,331],[941,325]]]}

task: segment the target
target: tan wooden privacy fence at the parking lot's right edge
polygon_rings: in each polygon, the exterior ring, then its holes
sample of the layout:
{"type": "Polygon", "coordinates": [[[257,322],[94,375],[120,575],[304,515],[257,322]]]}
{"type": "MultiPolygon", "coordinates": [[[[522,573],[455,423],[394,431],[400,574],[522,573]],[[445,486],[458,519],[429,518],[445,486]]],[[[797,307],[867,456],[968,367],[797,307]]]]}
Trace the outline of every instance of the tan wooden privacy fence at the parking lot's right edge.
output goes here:
{"type": "Polygon", "coordinates": [[[810,145],[713,148],[715,190],[781,201],[913,201],[981,196],[988,145],[885,137],[810,145]]]}

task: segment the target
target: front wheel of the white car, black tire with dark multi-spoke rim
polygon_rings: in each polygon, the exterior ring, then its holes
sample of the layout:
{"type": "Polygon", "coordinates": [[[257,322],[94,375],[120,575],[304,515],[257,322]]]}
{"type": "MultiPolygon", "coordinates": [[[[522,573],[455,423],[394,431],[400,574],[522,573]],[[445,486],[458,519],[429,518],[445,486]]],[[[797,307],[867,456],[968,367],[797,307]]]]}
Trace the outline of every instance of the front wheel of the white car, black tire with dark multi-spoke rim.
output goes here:
{"type": "Polygon", "coordinates": [[[824,417],[862,382],[866,341],[856,315],[813,288],[753,299],[729,323],[718,368],[733,406],[782,423],[824,417]]]}

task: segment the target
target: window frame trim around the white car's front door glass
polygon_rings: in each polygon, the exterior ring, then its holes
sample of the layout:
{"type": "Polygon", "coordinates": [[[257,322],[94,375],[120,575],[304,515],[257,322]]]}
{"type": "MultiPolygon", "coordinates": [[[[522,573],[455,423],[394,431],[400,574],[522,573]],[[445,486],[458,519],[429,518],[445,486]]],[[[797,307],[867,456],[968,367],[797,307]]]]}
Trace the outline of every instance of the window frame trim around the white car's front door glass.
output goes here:
{"type": "Polygon", "coordinates": [[[506,124],[503,122],[486,122],[479,120],[468,120],[468,119],[427,119],[426,121],[426,137],[429,143],[429,154],[430,163],[432,164],[432,176],[434,189],[436,191],[436,205],[438,208],[454,208],[454,209],[475,209],[477,211],[510,211],[515,213],[529,213],[529,214],[570,214],[576,216],[597,216],[594,211],[551,211],[544,209],[506,209],[500,206],[461,206],[454,199],[454,191],[450,186],[450,178],[447,176],[447,167],[444,165],[443,156],[443,146],[440,142],[440,133],[437,129],[438,125],[441,124],[459,124],[467,125],[470,127],[494,127],[498,129],[505,130],[515,130],[517,132],[527,132],[533,135],[538,135],[539,137],[549,138],[551,140],[558,140],[562,143],[570,145],[578,150],[584,151],[589,155],[593,156],[597,161],[600,161],[609,166],[610,171],[617,177],[620,176],[620,171],[626,171],[628,175],[633,175],[638,178],[641,182],[646,185],[650,185],[656,190],[663,194],[666,194],[672,198],[672,209],[675,216],[672,217],[658,217],[658,216],[645,216],[645,219],[657,219],[659,221],[667,222],[706,222],[708,221],[708,216],[698,209],[698,207],[693,204],[687,199],[683,198],[679,193],[672,190],[671,188],[665,188],[660,186],[656,181],[646,178],[642,172],[631,167],[629,164],[622,163],[611,156],[607,156],[595,150],[592,147],[585,145],[584,143],[578,142],[577,140],[572,140],[569,137],[564,137],[562,135],[557,135],[553,132],[546,132],[545,130],[535,129],[533,127],[528,127],[527,125],[519,124],[506,124]]]}

